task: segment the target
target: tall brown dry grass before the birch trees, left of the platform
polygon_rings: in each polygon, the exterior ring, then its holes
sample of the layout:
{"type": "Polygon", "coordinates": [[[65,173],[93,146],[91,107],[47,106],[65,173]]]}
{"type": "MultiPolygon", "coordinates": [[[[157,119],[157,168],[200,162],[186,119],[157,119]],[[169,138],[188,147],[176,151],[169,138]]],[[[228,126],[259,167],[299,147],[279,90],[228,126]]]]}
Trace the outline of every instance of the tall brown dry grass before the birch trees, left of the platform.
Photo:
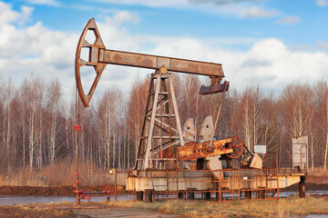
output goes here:
{"type": "MultiPolygon", "coordinates": [[[[79,174],[81,185],[114,183],[114,178],[108,174],[108,170],[99,169],[92,163],[80,164],[79,174]]],[[[125,178],[125,173],[118,173],[118,184],[125,184],[125,178]]],[[[75,164],[68,165],[65,162],[47,165],[40,170],[8,167],[5,172],[0,174],[0,185],[49,187],[72,185],[75,181],[75,164]]]]}

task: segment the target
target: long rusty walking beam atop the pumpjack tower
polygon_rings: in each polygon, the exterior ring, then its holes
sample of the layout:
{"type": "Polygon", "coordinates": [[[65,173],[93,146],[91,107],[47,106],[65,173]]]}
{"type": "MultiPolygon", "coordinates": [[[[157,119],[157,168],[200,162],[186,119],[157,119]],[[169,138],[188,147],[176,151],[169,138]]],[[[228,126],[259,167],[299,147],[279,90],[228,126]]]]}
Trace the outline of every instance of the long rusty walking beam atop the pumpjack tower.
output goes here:
{"type": "Polygon", "coordinates": [[[221,64],[150,54],[138,54],[100,49],[99,62],[104,64],[119,64],[149,69],[159,69],[161,67],[165,67],[168,69],[168,71],[171,72],[224,77],[221,64]]]}

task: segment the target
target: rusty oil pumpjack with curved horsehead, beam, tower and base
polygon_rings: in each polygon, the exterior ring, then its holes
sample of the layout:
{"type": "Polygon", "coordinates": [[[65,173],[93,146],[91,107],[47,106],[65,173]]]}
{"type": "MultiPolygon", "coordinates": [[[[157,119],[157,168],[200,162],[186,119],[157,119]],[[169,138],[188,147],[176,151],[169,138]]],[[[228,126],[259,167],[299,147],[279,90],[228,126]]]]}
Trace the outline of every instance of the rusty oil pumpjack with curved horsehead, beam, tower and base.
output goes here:
{"type": "MultiPolygon", "coordinates": [[[[149,94],[138,142],[136,163],[126,181],[128,191],[137,193],[148,190],[167,193],[174,191],[177,197],[181,192],[203,191],[207,192],[207,195],[214,192],[217,197],[220,195],[221,199],[222,188],[230,190],[241,190],[242,187],[251,188],[253,183],[250,180],[242,183],[232,181],[232,179],[227,180],[227,176],[231,176],[231,173],[221,172],[223,169],[230,169],[231,160],[241,158],[243,154],[250,157],[247,162],[244,162],[247,167],[251,165],[253,168],[261,169],[262,160],[259,155],[251,154],[237,136],[214,140],[220,109],[215,124],[210,116],[204,120],[199,140],[196,139],[193,120],[188,119],[183,129],[179,120],[172,83],[174,74],[209,76],[210,86],[201,86],[200,94],[221,93],[221,106],[224,94],[229,90],[229,82],[222,82],[224,73],[221,64],[108,50],[92,18],[79,39],[75,62],[77,91],[85,107],[89,105],[107,64],[154,70],[154,73],[149,76],[149,94]],[[87,32],[95,35],[94,43],[87,42],[87,32]],[[87,60],[81,57],[82,49],[88,49],[87,60]],[[93,67],[96,72],[96,79],[87,94],[83,90],[80,77],[80,68],[86,65],[93,67]],[[196,166],[192,166],[191,163],[196,163],[196,166]]],[[[234,173],[232,174],[235,176],[234,173]]],[[[260,176],[266,178],[265,181],[261,181],[262,187],[268,189],[269,185],[272,190],[277,190],[279,187],[277,166],[270,171],[262,170],[260,176]]]]}

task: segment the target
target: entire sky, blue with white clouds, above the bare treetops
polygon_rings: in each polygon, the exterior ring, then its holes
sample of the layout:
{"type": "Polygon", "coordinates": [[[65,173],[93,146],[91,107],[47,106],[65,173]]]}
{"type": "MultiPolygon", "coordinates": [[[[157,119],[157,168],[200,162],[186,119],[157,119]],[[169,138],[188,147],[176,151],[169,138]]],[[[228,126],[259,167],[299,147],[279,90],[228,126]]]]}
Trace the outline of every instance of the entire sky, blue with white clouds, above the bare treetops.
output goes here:
{"type": "MultiPolygon", "coordinates": [[[[71,98],[77,42],[92,17],[106,48],[220,63],[239,91],[328,81],[328,0],[0,1],[0,74],[16,86],[31,74],[57,78],[71,98]]],[[[128,94],[137,74],[150,73],[108,65],[95,95],[128,94]]],[[[85,89],[94,77],[82,74],[85,89]]]]}

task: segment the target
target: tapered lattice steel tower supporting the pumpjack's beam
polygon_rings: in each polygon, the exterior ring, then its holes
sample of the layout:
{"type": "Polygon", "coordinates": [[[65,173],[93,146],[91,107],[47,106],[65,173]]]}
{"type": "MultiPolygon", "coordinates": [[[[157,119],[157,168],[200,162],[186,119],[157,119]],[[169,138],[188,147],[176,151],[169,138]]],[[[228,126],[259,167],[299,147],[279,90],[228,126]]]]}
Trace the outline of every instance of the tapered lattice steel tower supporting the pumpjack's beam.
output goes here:
{"type": "Polygon", "coordinates": [[[135,169],[163,168],[168,159],[176,160],[169,148],[184,145],[172,76],[169,73],[150,75],[135,169]]]}

